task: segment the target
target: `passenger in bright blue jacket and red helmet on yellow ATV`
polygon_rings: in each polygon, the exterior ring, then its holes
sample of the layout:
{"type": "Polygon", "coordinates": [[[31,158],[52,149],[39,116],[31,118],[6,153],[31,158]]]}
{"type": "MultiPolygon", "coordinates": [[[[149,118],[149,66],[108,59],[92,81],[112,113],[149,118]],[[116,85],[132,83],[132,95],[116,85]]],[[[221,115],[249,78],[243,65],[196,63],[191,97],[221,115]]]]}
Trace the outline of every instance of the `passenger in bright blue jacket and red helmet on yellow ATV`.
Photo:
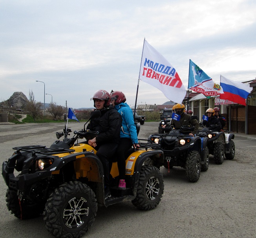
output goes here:
{"type": "Polygon", "coordinates": [[[137,130],[134,124],[132,109],[125,102],[126,97],[121,91],[112,91],[110,93],[111,104],[122,116],[122,127],[120,131],[120,143],[117,148],[117,167],[119,170],[119,189],[125,189],[125,167],[126,157],[125,153],[132,146],[139,148],[137,130]]]}

